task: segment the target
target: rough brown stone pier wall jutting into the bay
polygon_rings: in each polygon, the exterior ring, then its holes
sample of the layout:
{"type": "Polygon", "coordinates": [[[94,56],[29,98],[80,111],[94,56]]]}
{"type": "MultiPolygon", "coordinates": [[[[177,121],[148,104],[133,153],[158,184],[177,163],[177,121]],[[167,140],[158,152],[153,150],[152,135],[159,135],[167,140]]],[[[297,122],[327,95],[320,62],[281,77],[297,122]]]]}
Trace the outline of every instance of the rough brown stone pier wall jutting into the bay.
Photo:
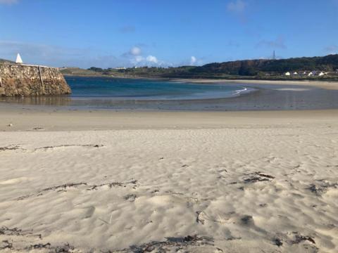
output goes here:
{"type": "Polygon", "coordinates": [[[63,74],[55,67],[0,65],[0,96],[70,94],[63,74]]]}

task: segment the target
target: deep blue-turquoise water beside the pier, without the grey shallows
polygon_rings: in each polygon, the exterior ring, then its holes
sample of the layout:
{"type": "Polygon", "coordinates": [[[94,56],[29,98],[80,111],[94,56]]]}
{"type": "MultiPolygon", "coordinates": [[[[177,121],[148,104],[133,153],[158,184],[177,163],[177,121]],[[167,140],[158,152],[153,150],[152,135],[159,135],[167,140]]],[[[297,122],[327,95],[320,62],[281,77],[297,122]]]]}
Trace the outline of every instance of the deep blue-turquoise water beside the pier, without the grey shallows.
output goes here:
{"type": "Polygon", "coordinates": [[[145,79],[66,77],[74,99],[192,100],[230,98],[248,92],[244,86],[188,84],[145,79]]]}

